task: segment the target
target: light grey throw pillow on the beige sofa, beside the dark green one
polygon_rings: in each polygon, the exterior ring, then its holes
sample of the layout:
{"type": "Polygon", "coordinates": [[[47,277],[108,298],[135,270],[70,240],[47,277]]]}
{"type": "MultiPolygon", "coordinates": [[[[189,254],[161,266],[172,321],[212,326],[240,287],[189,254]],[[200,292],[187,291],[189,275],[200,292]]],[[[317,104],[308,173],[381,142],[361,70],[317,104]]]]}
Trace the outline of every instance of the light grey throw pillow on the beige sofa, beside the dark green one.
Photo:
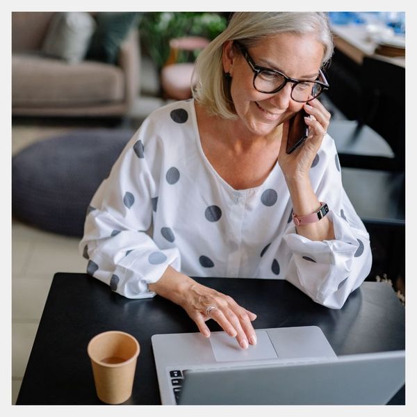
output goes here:
{"type": "Polygon", "coordinates": [[[85,12],[58,12],[49,24],[42,52],[69,63],[79,63],[87,53],[95,20],[85,12]]]}

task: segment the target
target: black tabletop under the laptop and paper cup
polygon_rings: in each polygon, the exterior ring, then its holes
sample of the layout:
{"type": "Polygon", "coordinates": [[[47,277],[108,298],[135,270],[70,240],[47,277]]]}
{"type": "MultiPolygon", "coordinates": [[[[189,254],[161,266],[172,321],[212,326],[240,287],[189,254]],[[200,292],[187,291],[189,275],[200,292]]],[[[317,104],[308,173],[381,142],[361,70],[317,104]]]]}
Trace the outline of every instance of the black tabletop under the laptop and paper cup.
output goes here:
{"type": "MultiPolygon", "coordinates": [[[[284,280],[196,278],[257,314],[256,329],[316,325],[336,354],[405,349],[404,307],[384,283],[364,282],[341,310],[313,302],[284,280]]],[[[220,330],[213,320],[208,327],[220,330]]],[[[124,404],[161,404],[151,336],[197,332],[181,307],[154,297],[129,300],[86,274],[57,273],[33,343],[17,404],[103,404],[95,393],[87,345],[121,330],[140,343],[132,397],[124,404]]],[[[405,389],[391,404],[404,404],[405,389]]]]}

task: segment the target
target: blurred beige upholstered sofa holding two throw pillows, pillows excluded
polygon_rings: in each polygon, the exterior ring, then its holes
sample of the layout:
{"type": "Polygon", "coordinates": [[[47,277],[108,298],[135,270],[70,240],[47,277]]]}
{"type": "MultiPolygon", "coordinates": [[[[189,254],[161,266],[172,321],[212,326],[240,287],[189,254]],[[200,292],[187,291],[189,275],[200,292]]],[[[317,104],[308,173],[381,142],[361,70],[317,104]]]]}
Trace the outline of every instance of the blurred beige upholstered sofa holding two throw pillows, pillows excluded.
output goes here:
{"type": "Polygon", "coordinates": [[[12,115],[126,115],[140,88],[137,28],[122,43],[115,65],[67,63],[41,53],[53,17],[50,12],[12,13],[12,115]]]}

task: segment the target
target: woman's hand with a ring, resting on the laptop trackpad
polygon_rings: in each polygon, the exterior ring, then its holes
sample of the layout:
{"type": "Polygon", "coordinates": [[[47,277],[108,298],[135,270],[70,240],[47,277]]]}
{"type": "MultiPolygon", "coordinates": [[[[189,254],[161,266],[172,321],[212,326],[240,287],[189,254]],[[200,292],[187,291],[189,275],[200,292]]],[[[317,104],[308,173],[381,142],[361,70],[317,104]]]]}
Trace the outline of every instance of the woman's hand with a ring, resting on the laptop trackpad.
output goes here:
{"type": "Polygon", "coordinates": [[[247,349],[249,344],[256,345],[256,334],[252,327],[256,314],[240,306],[229,295],[199,284],[170,266],[161,279],[149,284],[149,290],[183,307],[203,336],[210,336],[206,321],[213,318],[224,332],[236,337],[243,349],[247,349]],[[210,317],[206,315],[209,306],[215,307],[211,309],[210,317]]]}

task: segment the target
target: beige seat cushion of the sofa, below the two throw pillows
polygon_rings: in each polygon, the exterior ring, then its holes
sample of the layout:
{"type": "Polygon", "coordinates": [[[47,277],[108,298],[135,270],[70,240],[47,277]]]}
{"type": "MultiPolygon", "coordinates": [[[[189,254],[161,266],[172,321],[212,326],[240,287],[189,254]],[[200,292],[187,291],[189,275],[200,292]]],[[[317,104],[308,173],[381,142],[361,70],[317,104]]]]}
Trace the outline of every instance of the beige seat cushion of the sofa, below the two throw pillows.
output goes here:
{"type": "Polygon", "coordinates": [[[124,100],[120,67],[84,60],[68,65],[35,54],[12,56],[13,107],[91,106],[124,100]]]}

